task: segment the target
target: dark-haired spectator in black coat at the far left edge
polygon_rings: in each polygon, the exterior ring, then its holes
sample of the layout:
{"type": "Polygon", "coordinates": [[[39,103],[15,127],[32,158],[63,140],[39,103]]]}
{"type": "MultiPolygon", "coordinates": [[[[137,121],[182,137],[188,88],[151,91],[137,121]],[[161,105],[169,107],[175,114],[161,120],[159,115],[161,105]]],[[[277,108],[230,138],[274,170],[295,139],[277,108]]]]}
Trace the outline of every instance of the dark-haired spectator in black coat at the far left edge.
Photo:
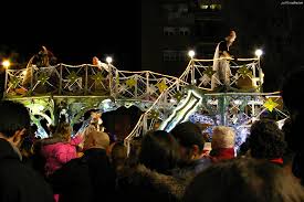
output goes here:
{"type": "Polygon", "coordinates": [[[20,103],[0,102],[0,201],[52,202],[52,190],[41,176],[24,166],[20,146],[30,129],[30,115],[20,103]]]}

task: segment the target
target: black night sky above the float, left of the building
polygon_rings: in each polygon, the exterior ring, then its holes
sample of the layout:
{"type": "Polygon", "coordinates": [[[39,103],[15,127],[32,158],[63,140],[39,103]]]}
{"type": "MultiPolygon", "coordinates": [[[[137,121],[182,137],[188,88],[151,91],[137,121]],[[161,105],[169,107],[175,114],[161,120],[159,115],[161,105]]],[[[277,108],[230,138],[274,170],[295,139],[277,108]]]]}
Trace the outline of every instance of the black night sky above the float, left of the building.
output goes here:
{"type": "Polygon", "coordinates": [[[109,55],[119,70],[138,70],[137,1],[96,2],[2,4],[1,51],[18,52],[19,61],[28,61],[45,45],[59,63],[92,63],[95,55],[102,61],[109,55]]]}

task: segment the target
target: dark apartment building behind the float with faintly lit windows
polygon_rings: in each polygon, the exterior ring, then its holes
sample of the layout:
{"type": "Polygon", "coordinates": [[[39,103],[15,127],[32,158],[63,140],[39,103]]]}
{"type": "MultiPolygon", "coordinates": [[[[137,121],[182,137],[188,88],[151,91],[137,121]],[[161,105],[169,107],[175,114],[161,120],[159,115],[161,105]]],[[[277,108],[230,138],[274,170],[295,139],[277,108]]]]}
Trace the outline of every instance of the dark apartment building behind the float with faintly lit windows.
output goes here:
{"type": "Polygon", "coordinates": [[[141,2],[141,70],[179,76],[196,57],[213,59],[221,39],[220,1],[146,0],[141,2]]]}

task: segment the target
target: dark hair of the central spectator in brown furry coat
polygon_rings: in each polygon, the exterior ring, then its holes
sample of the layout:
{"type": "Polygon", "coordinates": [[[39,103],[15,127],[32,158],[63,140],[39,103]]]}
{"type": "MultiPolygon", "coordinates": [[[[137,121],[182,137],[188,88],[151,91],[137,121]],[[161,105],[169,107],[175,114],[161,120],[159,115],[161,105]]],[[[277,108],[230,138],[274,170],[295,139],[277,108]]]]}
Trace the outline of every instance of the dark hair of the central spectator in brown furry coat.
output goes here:
{"type": "Polygon", "coordinates": [[[141,140],[139,162],[151,170],[168,173],[179,161],[178,142],[165,130],[150,131],[141,140]]]}

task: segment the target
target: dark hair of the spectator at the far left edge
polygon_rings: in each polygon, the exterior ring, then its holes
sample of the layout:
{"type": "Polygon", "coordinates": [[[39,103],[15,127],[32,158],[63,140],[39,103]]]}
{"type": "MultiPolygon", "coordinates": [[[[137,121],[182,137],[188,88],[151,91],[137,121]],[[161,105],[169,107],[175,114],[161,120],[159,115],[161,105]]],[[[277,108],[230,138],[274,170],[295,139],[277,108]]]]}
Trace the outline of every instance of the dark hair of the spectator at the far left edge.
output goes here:
{"type": "Polygon", "coordinates": [[[31,119],[28,108],[12,100],[0,102],[0,132],[10,138],[17,130],[30,129],[31,119]]]}

